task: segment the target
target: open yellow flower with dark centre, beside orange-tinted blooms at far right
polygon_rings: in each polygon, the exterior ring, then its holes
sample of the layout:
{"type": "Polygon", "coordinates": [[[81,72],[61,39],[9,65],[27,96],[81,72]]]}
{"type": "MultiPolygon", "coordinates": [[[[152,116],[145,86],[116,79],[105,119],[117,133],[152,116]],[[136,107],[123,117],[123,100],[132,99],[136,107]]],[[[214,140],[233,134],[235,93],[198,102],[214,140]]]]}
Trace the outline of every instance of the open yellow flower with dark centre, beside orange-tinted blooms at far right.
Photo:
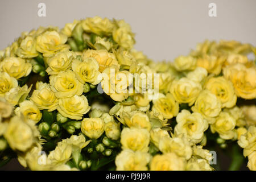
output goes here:
{"type": "Polygon", "coordinates": [[[210,90],[221,101],[222,107],[233,107],[236,105],[237,96],[234,92],[232,82],[224,77],[211,77],[204,85],[205,89],[210,90]]]}

